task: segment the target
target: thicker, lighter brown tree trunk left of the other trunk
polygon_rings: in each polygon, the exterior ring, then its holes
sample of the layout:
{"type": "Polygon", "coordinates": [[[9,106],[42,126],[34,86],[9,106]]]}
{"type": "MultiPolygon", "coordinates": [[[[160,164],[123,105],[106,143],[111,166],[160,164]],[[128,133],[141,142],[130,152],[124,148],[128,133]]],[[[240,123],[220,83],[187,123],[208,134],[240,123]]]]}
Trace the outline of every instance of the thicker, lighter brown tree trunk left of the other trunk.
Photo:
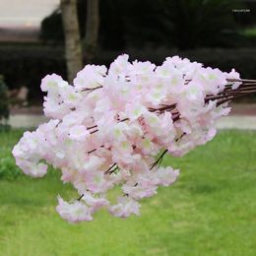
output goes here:
{"type": "Polygon", "coordinates": [[[65,55],[68,81],[71,83],[83,67],[82,45],[79,33],[77,1],[61,0],[62,23],[65,34],[65,55]]]}

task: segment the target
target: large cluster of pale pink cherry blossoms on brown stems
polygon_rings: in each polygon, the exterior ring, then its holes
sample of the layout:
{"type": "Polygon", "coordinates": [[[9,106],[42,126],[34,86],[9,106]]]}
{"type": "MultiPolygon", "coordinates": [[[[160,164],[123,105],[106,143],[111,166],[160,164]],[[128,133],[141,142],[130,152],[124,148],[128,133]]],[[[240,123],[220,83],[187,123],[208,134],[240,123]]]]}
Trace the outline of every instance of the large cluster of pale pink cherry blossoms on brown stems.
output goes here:
{"type": "Polygon", "coordinates": [[[41,90],[50,121],[26,132],[13,155],[32,177],[42,177],[51,164],[73,184],[77,200],[58,198],[57,212],[68,222],[91,221],[101,208],[120,218],[139,215],[139,201],[179,174],[160,166],[164,154],[181,157],[212,140],[216,120],[230,110],[222,94],[236,90],[239,81],[234,70],[204,68],[178,56],[156,66],[121,55],[108,70],[87,65],[74,86],[47,75],[41,90]],[[122,191],[111,203],[107,192],[115,186],[122,191]]]}

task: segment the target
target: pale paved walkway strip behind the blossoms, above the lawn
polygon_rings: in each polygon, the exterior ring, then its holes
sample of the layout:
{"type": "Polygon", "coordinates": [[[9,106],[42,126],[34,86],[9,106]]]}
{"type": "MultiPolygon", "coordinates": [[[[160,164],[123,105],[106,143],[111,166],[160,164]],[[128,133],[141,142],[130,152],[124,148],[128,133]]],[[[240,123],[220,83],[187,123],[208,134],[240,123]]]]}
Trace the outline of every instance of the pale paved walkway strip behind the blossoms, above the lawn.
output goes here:
{"type": "MultiPolygon", "coordinates": [[[[12,127],[34,127],[46,122],[48,119],[40,114],[11,115],[12,127]]],[[[222,117],[218,122],[219,129],[256,130],[256,115],[229,115],[222,117]]]]}

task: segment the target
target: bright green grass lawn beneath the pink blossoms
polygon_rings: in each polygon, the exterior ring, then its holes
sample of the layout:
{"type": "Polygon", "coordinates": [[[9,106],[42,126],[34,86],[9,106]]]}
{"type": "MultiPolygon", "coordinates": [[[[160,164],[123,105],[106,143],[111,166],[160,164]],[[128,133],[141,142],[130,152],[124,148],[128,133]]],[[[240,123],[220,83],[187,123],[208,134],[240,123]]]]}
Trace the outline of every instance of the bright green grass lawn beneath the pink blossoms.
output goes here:
{"type": "MultiPolygon", "coordinates": [[[[0,158],[21,131],[0,134],[0,158]]],[[[5,161],[5,159],[7,159],[5,161]]],[[[42,179],[0,179],[0,255],[256,255],[256,133],[225,131],[185,158],[178,181],[143,201],[141,217],[67,224],[56,195],[72,198],[52,171],[42,179]]]]}

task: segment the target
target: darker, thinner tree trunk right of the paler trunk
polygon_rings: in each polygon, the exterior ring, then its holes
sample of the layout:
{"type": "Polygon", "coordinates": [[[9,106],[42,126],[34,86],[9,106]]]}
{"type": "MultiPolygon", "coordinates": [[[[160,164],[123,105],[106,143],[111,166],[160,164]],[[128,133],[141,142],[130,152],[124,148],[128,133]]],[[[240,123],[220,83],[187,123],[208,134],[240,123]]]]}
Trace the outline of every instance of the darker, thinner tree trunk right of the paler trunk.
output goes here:
{"type": "Polygon", "coordinates": [[[87,25],[84,46],[86,61],[88,63],[91,63],[96,56],[99,26],[98,1],[99,0],[87,0],[87,25]]]}

